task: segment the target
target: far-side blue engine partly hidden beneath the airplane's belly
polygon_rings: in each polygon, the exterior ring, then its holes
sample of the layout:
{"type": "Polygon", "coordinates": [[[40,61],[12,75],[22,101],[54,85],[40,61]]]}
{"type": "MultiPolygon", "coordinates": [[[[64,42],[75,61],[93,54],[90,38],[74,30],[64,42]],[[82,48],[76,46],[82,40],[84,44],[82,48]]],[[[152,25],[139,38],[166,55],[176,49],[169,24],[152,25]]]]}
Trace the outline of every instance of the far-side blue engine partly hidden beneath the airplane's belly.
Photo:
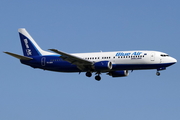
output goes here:
{"type": "Polygon", "coordinates": [[[125,76],[128,76],[129,73],[128,73],[128,70],[119,70],[119,71],[109,72],[109,75],[112,77],[125,77],[125,76]]]}

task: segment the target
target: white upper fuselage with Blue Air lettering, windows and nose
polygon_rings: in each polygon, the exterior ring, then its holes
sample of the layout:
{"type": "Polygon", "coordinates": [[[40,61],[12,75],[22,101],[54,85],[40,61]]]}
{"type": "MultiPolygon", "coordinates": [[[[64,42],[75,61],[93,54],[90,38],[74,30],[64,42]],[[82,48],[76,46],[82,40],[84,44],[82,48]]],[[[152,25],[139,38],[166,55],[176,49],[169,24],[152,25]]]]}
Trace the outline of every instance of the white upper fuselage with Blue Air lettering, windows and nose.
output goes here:
{"type": "Polygon", "coordinates": [[[164,64],[177,62],[166,53],[158,51],[116,51],[72,54],[89,61],[111,61],[112,64],[164,64]]]}

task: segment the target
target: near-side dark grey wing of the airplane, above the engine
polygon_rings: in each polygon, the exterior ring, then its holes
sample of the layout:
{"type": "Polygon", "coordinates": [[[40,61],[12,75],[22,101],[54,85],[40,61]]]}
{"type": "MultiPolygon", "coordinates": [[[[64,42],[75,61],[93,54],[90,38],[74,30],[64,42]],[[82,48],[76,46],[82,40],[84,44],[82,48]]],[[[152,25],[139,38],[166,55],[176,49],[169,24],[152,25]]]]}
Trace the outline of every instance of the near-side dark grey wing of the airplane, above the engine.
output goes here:
{"type": "Polygon", "coordinates": [[[80,68],[80,69],[83,69],[83,66],[85,66],[85,65],[92,65],[93,64],[92,61],[85,60],[85,59],[82,59],[80,57],[77,57],[77,56],[74,56],[74,55],[71,55],[71,54],[56,50],[56,49],[49,49],[49,50],[51,50],[51,51],[53,51],[53,52],[55,52],[57,54],[60,54],[61,55],[60,57],[63,60],[77,65],[78,68],[80,68]]]}

